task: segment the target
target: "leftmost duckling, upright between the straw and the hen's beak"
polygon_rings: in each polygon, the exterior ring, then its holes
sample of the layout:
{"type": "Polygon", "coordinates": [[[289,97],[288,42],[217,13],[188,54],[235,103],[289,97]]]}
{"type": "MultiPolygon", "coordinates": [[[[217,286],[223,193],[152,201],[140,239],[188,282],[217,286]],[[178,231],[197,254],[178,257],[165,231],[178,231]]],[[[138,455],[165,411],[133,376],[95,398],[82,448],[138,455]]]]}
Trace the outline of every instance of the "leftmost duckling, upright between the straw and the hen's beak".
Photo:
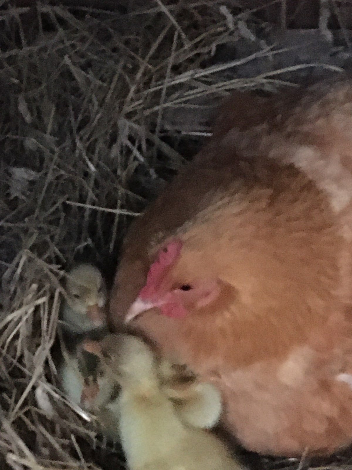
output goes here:
{"type": "Polygon", "coordinates": [[[86,337],[106,334],[105,305],[107,289],[98,268],[84,263],[74,267],[66,277],[66,298],[61,307],[61,389],[75,404],[80,404],[86,381],[96,375],[96,357],[78,347],[86,337]]]}

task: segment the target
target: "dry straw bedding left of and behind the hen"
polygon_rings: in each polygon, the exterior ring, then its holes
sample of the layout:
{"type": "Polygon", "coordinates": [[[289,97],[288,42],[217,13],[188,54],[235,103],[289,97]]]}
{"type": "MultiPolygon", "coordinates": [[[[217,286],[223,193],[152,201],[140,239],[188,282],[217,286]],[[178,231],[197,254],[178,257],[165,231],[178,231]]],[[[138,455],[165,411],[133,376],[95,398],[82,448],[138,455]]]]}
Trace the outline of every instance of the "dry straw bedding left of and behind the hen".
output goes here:
{"type": "MultiPolygon", "coordinates": [[[[223,2],[1,5],[0,468],[123,468],[56,388],[63,269],[88,259],[111,279],[129,221],[197,151],[214,103],[275,90],[307,61],[297,48],[273,55],[268,25],[223,2]]],[[[309,70],[338,70],[346,53],[323,47],[323,67],[314,44],[309,70]]]]}

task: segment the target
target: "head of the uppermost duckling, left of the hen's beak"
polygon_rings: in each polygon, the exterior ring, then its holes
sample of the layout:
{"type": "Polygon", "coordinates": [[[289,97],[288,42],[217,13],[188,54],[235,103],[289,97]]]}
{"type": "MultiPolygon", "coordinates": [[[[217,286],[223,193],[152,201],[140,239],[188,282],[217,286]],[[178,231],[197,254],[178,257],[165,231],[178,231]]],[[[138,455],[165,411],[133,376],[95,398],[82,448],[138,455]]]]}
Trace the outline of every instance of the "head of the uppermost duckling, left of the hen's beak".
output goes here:
{"type": "Polygon", "coordinates": [[[90,264],[74,267],[66,276],[67,299],[62,320],[75,333],[84,333],[106,324],[106,285],[98,268],[90,264]]]}

